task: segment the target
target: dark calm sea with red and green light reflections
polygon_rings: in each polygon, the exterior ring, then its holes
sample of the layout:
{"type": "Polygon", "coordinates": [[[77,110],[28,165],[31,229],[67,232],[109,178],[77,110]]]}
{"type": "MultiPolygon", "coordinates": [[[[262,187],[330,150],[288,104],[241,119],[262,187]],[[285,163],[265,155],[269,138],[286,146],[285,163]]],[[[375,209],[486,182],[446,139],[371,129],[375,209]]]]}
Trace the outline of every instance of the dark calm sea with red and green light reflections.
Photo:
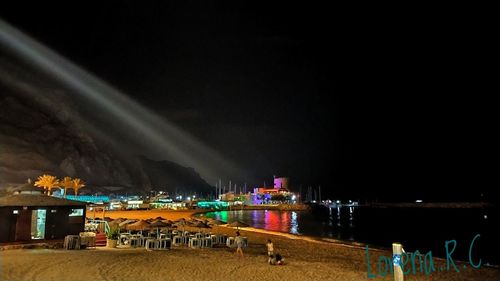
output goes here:
{"type": "MultiPolygon", "coordinates": [[[[356,241],[390,248],[400,242],[406,251],[432,251],[446,257],[445,242],[456,240],[454,260],[469,260],[472,247],[477,262],[500,265],[498,212],[493,209],[427,209],[343,207],[317,212],[306,211],[218,211],[205,214],[222,221],[240,220],[255,228],[270,231],[356,241]]],[[[453,245],[449,245],[451,252],[453,245]]]]}

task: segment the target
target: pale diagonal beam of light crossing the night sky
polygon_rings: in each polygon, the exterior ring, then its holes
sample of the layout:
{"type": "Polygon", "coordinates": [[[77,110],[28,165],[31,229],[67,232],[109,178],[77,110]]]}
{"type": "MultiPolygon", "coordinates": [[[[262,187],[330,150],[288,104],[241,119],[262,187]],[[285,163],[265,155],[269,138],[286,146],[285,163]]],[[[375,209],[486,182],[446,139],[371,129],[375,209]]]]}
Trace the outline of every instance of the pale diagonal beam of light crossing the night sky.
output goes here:
{"type": "Polygon", "coordinates": [[[151,147],[146,147],[148,157],[167,158],[191,166],[209,182],[215,181],[221,173],[243,175],[234,163],[201,141],[1,19],[0,45],[88,100],[105,114],[108,122],[119,123],[132,132],[129,137],[135,138],[136,143],[145,146],[151,143],[151,147]]]}

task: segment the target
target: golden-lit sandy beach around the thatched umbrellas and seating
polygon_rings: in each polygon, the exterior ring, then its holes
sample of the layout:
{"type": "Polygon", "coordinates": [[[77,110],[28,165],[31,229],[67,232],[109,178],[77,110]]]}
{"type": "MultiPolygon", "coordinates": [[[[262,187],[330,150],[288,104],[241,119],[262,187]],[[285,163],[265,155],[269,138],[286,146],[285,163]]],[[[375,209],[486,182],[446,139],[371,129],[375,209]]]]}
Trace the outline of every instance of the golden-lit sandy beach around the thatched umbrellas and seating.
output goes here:
{"type": "MultiPolygon", "coordinates": [[[[110,217],[148,218],[162,216],[168,219],[189,217],[192,211],[134,211],[107,212],[110,217]]],[[[186,227],[187,230],[196,230],[186,227]]],[[[234,236],[235,229],[218,226],[214,233],[234,236]]],[[[249,238],[239,258],[234,249],[217,247],[190,249],[174,247],[166,251],[145,249],[32,249],[0,251],[0,280],[393,280],[385,277],[369,278],[366,250],[363,246],[341,245],[303,239],[286,234],[269,233],[252,228],[240,229],[249,238]],[[272,239],[275,251],[285,257],[285,265],[267,264],[265,243],[272,239]]],[[[370,248],[371,273],[377,275],[377,260],[385,250],[370,248]]],[[[436,269],[445,268],[446,261],[435,259],[436,269]]],[[[496,268],[463,268],[460,272],[441,271],[409,274],[405,280],[500,280],[496,268]]]]}

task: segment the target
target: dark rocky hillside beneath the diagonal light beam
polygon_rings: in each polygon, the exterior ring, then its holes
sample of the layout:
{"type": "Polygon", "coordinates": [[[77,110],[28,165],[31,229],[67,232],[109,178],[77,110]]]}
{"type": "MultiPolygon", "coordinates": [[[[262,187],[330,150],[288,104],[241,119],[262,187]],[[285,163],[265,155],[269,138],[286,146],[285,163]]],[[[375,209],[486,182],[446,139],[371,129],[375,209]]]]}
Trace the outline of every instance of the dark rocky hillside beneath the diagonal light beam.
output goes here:
{"type": "Polygon", "coordinates": [[[44,173],[83,179],[83,194],[211,190],[192,168],[113,149],[83,124],[68,90],[43,78],[0,55],[0,190],[44,173]]]}

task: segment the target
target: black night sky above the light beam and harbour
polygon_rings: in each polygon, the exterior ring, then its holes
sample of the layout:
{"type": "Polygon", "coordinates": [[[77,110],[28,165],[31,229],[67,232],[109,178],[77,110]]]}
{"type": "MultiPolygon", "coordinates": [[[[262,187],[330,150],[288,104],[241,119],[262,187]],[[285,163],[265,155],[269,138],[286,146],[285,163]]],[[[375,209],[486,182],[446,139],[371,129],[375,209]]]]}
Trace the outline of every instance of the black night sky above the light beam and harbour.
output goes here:
{"type": "Polygon", "coordinates": [[[229,3],[21,3],[0,16],[233,159],[253,183],[284,175],[354,197],[487,192],[488,17],[229,3]]]}

